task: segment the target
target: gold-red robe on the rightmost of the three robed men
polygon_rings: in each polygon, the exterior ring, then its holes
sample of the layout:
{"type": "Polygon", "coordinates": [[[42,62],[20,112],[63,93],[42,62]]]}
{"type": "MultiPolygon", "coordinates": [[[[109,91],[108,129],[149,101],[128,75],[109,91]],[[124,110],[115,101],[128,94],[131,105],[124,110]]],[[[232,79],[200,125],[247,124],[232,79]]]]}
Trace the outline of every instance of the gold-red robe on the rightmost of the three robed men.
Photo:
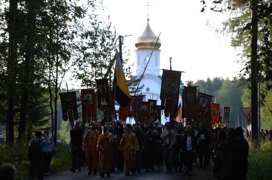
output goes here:
{"type": "Polygon", "coordinates": [[[122,135],[119,150],[124,151],[124,165],[126,171],[134,171],[136,160],[136,151],[140,150],[137,137],[134,133],[130,132],[122,135]]]}

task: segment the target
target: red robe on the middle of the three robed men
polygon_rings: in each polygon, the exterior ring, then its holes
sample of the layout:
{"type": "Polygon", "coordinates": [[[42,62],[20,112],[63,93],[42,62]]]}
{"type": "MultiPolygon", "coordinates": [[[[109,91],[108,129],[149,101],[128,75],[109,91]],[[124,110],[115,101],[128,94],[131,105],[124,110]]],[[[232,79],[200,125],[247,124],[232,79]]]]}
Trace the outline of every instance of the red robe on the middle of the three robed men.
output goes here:
{"type": "Polygon", "coordinates": [[[99,135],[97,140],[97,150],[99,150],[99,167],[103,173],[110,173],[112,165],[112,144],[113,135],[108,133],[107,135],[99,135]],[[108,140],[106,140],[108,137],[108,140]],[[103,151],[100,150],[103,148],[103,151]]]}

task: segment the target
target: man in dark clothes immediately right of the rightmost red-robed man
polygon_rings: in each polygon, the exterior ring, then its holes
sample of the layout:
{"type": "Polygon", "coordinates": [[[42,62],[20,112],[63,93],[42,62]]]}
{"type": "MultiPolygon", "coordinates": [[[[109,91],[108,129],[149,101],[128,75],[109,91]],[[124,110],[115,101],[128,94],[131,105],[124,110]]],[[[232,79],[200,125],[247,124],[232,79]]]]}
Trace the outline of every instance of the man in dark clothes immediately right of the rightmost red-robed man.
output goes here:
{"type": "Polygon", "coordinates": [[[140,146],[140,150],[136,151],[136,170],[138,171],[138,173],[141,173],[142,148],[145,145],[145,137],[143,132],[140,131],[138,124],[134,125],[133,133],[136,134],[136,137],[140,146]]]}

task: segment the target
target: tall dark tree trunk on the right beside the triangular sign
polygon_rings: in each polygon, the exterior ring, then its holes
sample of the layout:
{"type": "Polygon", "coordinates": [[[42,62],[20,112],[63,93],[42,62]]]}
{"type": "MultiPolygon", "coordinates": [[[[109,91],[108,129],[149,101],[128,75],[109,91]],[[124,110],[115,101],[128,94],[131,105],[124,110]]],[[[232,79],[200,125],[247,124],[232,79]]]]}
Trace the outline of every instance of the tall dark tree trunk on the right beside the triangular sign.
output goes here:
{"type": "Polygon", "coordinates": [[[258,67],[257,67],[257,41],[258,41],[258,0],[252,0],[252,38],[251,38],[251,122],[252,141],[258,141],[258,67]]]}

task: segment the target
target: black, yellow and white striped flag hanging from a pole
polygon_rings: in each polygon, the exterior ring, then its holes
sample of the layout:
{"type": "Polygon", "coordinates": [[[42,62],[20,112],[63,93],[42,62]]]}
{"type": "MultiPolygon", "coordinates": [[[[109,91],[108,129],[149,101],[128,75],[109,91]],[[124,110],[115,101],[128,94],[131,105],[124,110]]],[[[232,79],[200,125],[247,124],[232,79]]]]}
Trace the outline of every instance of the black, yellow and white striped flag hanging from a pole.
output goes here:
{"type": "Polygon", "coordinates": [[[126,107],[131,101],[131,95],[129,92],[122,62],[117,50],[116,50],[115,56],[116,56],[116,64],[115,64],[114,79],[113,79],[113,85],[114,85],[113,91],[115,93],[114,96],[115,96],[116,102],[118,102],[120,106],[126,107]]]}

